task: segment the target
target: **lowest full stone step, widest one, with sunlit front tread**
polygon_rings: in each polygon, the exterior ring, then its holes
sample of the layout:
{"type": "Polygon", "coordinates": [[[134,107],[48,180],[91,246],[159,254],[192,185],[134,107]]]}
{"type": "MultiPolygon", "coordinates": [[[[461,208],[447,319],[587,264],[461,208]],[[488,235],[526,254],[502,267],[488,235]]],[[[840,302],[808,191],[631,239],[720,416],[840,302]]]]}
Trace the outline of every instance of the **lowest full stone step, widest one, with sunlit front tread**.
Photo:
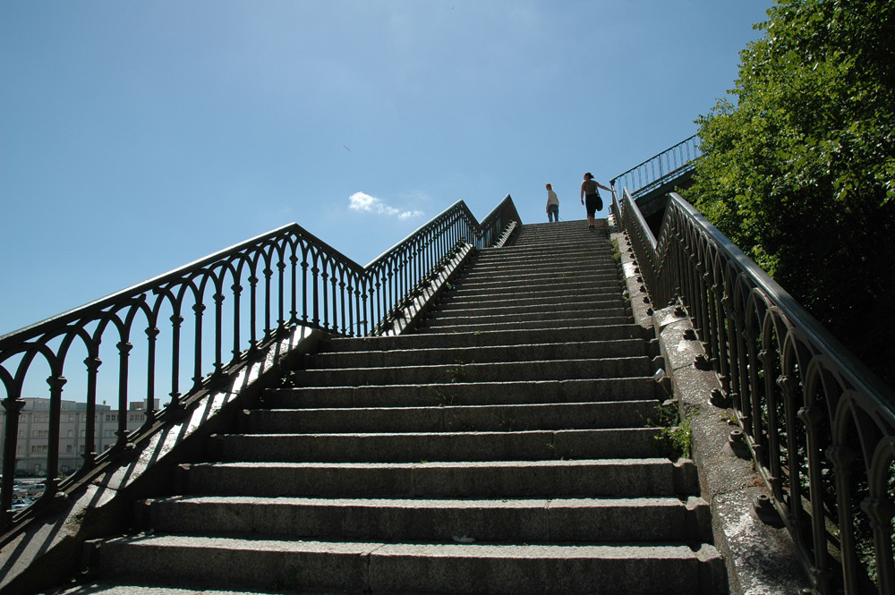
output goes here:
{"type": "MultiPolygon", "coordinates": [[[[277,591],[684,593],[718,572],[712,546],[464,544],[142,535],[96,552],[107,577],[277,591]],[[213,560],[213,564],[209,561],[213,560]],[[164,569],[159,571],[159,569],[164,569]]],[[[703,591],[704,592],[704,591],[703,591]]]]}

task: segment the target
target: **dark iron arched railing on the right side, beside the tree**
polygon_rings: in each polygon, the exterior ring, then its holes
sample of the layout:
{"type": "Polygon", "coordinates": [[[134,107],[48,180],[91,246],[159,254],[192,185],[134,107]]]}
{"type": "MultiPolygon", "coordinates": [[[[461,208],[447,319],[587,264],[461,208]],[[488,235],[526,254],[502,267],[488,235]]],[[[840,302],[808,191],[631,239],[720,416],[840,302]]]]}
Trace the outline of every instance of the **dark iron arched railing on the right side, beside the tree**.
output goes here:
{"type": "Polygon", "coordinates": [[[814,589],[895,593],[895,394],[677,193],[658,241],[630,194],[613,210],[652,302],[692,319],[814,589]]]}

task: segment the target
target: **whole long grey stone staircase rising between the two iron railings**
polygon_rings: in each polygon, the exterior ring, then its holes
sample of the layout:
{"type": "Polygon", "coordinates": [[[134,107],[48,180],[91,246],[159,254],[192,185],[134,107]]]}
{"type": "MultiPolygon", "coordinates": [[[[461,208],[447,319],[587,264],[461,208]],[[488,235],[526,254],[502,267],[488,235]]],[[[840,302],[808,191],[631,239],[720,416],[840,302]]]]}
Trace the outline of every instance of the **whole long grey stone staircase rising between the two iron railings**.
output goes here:
{"type": "Polygon", "coordinates": [[[481,251],[412,335],[329,340],[72,592],[725,592],[599,223],[481,251]]]}

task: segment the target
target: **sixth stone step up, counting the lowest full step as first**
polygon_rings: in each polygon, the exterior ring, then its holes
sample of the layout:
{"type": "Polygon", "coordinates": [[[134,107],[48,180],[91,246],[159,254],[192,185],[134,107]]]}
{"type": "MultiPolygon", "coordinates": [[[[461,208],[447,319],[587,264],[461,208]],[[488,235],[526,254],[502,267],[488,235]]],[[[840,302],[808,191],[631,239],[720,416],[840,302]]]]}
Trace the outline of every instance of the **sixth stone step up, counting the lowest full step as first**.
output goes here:
{"type": "Polygon", "coordinates": [[[590,403],[661,399],[667,395],[652,376],[531,382],[454,382],[381,387],[270,389],[268,407],[416,407],[424,405],[590,403]]]}

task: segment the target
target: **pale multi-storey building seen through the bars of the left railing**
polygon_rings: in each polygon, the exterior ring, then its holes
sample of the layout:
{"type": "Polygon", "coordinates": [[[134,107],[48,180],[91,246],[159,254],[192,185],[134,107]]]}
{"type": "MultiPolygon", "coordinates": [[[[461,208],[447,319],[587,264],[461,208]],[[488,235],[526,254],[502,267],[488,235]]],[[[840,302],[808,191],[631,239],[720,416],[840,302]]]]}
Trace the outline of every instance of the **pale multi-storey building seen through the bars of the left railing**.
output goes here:
{"type": "MultiPolygon", "coordinates": [[[[50,400],[25,397],[19,415],[19,436],[15,448],[16,472],[40,475],[47,471],[50,400]]],[[[126,412],[127,429],[133,431],[146,420],[146,402],[131,403],[126,412]]],[[[118,437],[118,411],[106,404],[97,404],[94,436],[96,453],[104,453],[115,445],[118,437]]],[[[0,461],[6,444],[6,412],[0,407],[0,461]]],[[[81,468],[87,434],[87,404],[62,402],[59,424],[59,471],[73,472],[81,468]]]]}

